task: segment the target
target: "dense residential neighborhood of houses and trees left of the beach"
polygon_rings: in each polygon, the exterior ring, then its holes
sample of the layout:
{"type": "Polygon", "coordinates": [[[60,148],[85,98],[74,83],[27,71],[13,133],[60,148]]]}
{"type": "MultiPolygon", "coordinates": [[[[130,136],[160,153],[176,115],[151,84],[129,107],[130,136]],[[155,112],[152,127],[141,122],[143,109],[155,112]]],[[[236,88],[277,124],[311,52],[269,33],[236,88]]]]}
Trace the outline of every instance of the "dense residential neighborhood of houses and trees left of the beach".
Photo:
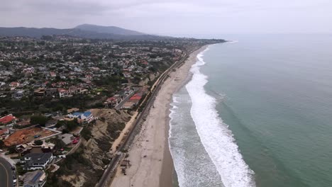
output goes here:
{"type": "Polygon", "coordinates": [[[0,154],[13,166],[14,185],[44,186],[74,162],[91,166],[84,158],[93,154],[90,144],[104,151],[93,168],[98,180],[114,157],[112,143],[142,111],[157,78],[206,43],[211,41],[0,38],[0,154]],[[104,123],[109,137],[94,139],[104,133],[94,126],[104,123]]]}

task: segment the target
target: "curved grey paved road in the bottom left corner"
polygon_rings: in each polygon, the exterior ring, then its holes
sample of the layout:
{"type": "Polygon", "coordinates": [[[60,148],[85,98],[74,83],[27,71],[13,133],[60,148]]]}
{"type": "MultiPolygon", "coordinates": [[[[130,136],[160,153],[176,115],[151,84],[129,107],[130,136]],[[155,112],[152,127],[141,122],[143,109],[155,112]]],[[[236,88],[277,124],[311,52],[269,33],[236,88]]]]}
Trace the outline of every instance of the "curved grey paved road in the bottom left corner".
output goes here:
{"type": "Polygon", "coordinates": [[[11,164],[2,157],[0,157],[0,186],[13,187],[13,171],[11,171],[11,164]]]}

